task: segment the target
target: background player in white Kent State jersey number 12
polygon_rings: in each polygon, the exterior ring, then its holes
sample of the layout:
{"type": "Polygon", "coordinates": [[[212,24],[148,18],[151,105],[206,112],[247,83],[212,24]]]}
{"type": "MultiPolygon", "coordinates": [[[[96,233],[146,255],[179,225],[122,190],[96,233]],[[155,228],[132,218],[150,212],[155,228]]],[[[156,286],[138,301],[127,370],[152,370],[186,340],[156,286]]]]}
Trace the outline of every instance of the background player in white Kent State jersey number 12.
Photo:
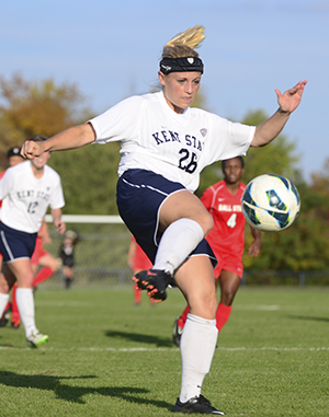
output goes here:
{"type": "MultiPolygon", "coordinates": [[[[35,143],[44,140],[35,136],[35,143]]],[[[48,165],[49,152],[7,170],[0,181],[1,222],[0,253],[3,265],[0,274],[0,316],[7,305],[9,291],[18,281],[16,302],[25,328],[27,343],[37,347],[48,336],[38,332],[34,320],[33,278],[31,256],[37,232],[47,207],[58,233],[65,232],[61,221],[64,196],[59,175],[48,165]]]]}

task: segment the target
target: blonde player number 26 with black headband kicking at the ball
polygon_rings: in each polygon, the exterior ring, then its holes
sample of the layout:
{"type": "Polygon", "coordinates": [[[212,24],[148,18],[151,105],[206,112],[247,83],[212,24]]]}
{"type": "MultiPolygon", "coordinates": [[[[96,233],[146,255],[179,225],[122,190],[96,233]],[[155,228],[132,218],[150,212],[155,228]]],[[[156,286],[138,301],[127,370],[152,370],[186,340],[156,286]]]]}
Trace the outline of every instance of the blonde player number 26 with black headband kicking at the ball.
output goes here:
{"type": "Polygon", "coordinates": [[[284,94],[275,90],[279,109],[258,127],[191,108],[203,73],[195,48],[203,39],[204,27],[195,26],[164,46],[158,72],[161,92],[124,100],[45,142],[27,141],[22,154],[33,158],[91,142],[122,142],[118,210],[154,264],[137,274],[136,281],[151,298],[164,300],[174,278],[191,309],[181,338],[182,383],[173,410],[223,415],[201,395],[217,339],[216,259],[204,240],[212,216],[193,192],[206,165],[273,140],[298,106],[306,81],[284,94]]]}

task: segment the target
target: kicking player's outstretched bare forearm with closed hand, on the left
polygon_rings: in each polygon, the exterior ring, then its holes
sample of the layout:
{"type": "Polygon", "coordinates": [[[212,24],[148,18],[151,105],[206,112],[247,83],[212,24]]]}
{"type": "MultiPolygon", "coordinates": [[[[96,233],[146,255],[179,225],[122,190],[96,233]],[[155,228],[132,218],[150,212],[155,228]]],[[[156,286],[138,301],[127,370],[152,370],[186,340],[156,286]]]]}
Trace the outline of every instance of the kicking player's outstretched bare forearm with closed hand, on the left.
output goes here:
{"type": "Polygon", "coordinates": [[[47,151],[63,151],[81,148],[94,140],[95,132],[91,124],[88,123],[86,125],[70,127],[43,142],[26,140],[22,146],[21,155],[27,159],[33,159],[47,151]]]}

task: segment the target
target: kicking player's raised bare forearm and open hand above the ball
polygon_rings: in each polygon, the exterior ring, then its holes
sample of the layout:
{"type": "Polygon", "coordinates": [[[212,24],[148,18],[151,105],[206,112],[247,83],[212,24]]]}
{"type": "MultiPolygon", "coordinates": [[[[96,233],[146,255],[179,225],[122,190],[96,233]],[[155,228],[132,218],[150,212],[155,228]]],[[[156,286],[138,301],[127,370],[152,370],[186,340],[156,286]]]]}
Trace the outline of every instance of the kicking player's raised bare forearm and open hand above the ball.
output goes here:
{"type": "Polygon", "coordinates": [[[275,90],[279,109],[268,120],[257,126],[251,147],[263,147],[270,143],[282,131],[290,115],[298,107],[307,81],[299,81],[283,94],[275,90]]]}

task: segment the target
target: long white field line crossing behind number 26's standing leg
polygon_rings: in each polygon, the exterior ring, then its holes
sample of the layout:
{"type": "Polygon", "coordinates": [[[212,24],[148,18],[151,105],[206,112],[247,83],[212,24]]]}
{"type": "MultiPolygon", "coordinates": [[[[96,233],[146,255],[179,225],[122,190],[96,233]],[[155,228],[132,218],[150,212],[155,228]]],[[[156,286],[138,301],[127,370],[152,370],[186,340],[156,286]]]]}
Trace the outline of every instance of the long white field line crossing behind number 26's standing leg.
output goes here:
{"type": "MultiPolygon", "coordinates": [[[[13,347],[13,346],[0,346],[0,350],[34,350],[29,347],[13,347]]],[[[36,350],[36,349],[35,349],[36,350]]],[[[54,347],[47,347],[43,346],[39,347],[37,350],[47,350],[47,351],[90,351],[90,352],[139,352],[139,351],[167,351],[167,352],[178,352],[179,349],[172,347],[172,348],[98,348],[98,347],[90,347],[90,348],[71,348],[71,349],[65,349],[65,348],[54,348],[54,347]]],[[[318,351],[329,351],[329,346],[324,347],[309,347],[309,348],[303,348],[303,347],[271,347],[271,346],[263,346],[258,348],[247,348],[247,347],[218,347],[216,351],[311,351],[311,352],[318,352],[318,351]]]]}

